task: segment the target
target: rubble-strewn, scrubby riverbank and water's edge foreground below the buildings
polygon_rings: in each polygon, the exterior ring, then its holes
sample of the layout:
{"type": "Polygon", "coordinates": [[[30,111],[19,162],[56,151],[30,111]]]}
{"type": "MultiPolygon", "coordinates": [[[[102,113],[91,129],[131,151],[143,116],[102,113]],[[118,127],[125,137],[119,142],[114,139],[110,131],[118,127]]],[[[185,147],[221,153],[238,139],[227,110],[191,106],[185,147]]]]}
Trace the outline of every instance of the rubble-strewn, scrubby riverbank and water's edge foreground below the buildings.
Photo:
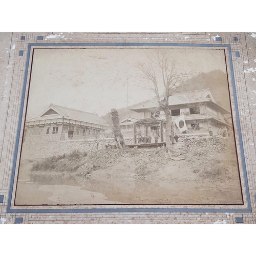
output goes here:
{"type": "Polygon", "coordinates": [[[182,143],[177,143],[170,155],[160,147],[123,148],[27,161],[20,167],[19,180],[30,181],[18,182],[17,194],[23,195],[18,201],[27,200],[31,204],[38,200],[42,204],[74,201],[75,204],[242,204],[237,160],[230,152],[231,147],[225,145],[225,148],[218,153],[218,150],[207,151],[194,145],[193,150],[187,152],[182,143]],[[86,198],[84,195],[89,194],[84,190],[92,196],[86,198]]]}

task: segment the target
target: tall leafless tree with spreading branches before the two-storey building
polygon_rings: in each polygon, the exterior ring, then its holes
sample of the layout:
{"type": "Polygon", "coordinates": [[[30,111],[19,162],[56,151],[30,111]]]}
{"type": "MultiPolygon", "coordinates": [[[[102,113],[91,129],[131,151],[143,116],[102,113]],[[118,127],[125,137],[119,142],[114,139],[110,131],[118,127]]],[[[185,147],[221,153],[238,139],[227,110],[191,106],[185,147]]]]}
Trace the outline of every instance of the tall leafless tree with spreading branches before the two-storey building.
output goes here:
{"type": "Polygon", "coordinates": [[[148,90],[156,95],[159,110],[163,110],[166,118],[165,140],[166,152],[172,151],[170,136],[173,130],[172,113],[169,111],[169,97],[175,92],[186,90],[184,80],[191,77],[190,73],[184,73],[176,67],[176,61],[171,57],[167,49],[155,50],[147,55],[150,63],[139,63],[139,69],[144,77],[151,81],[148,90]]]}

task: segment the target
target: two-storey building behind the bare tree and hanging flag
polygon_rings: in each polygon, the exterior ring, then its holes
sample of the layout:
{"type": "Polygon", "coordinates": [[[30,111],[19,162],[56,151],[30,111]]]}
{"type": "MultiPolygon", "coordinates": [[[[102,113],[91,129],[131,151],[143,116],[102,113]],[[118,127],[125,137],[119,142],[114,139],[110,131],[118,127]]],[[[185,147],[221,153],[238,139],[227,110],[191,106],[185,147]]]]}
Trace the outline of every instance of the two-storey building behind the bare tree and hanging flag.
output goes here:
{"type": "MultiPolygon", "coordinates": [[[[148,130],[147,133],[152,137],[158,133],[160,140],[165,138],[164,135],[160,136],[165,131],[165,115],[163,111],[159,111],[156,98],[131,110],[140,113],[140,120],[137,122],[140,126],[137,130],[142,135],[148,130]]],[[[218,134],[219,129],[223,127],[230,129],[231,126],[231,112],[216,103],[209,89],[174,93],[169,97],[169,111],[172,114],[176,134],[181,134],[175,124],[175,120],[181,116],[185,119],[187,129],[183,133],[186,134],[209,134],[209,130],[218,134]]]]}

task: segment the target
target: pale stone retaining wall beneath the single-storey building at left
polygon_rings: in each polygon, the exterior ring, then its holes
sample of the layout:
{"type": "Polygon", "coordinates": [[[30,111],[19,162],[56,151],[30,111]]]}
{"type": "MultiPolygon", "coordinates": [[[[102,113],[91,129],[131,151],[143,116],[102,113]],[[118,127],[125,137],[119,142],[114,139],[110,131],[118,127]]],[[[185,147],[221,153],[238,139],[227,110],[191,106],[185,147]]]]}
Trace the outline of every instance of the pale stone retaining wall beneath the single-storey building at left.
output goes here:
{"type": "MultiPolygon", "coordinates": [[[[133,138],[124,138],[125,144],[133,144],[133,138]]],[[[54,155],[70,154],[74,150],[80,152],[89,152],[95,150],[98,142],[98,148],[105,148],[105,145],[115,144],[113,138],[98,140],[62,140],[46,142],[25,142],[22,147],[23,159],[46,158],[54,155]]]]}

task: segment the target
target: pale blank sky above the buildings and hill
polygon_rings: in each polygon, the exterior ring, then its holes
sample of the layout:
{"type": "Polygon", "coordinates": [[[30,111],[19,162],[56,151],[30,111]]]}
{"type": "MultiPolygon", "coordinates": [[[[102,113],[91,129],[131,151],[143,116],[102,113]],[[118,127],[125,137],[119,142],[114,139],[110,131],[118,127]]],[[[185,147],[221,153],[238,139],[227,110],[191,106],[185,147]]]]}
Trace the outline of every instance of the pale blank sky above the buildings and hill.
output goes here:
{"type": "MultiPolygon", "coordinates": [[[[27,119],[53,103],[102,116],[112,108],[152,99],[144,90],[138,62],[150,63],[153,49],[36,49],[34,50],[27,119]],[[129,77],[127,79],[127,77],[129,77]]],[[[182,71],[226,73],[224,50],[169,49],[182,71]]]]}

